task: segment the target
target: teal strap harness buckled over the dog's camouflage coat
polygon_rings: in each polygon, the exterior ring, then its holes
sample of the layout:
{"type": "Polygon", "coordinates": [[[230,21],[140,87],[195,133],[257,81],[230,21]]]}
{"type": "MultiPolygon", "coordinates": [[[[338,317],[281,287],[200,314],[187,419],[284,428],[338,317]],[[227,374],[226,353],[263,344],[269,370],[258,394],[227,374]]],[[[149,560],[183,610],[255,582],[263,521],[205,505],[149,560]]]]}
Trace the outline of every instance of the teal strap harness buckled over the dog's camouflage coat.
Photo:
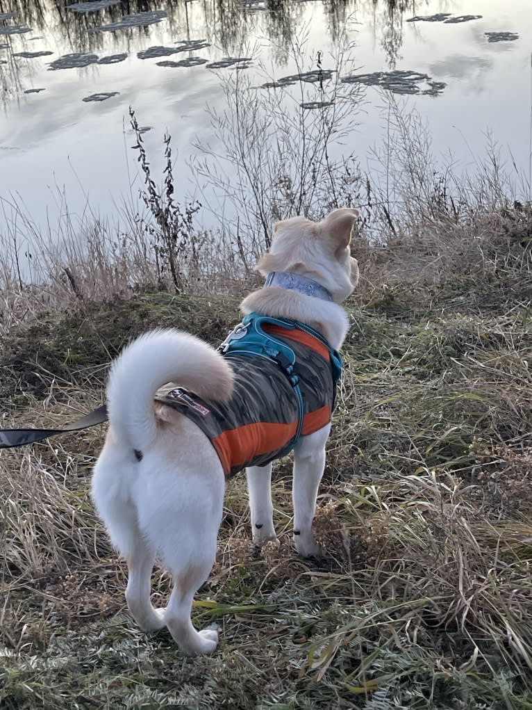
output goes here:
{"type": "Polygon", "coordinates": [[[342,356],[338,350],[331,348],[323,335],[314,330],[314,328],[311,328],[297,320],[289,320],[287,318],[271,318],[255,312],[245,316],[243,321],[228,334],[228,337],[226,337],[223,343],[218,347],[218,351],[226,357],[231,357],[232,355],[262,357],[277,363],[277,365],[279,365],[279,367],[284,371],[290,384],[294,388],[294,394],[297,399],[298,425],[296,436],[292,442],[292,447],[295,447],[299,441],[299,437],[301,437],[304,417],[303,395],[301,394],[301,388],[299,387],[296,355],[289,344],[284,342],[282,339],[265,332],[263,326],[268,324],[277,325],[287,330],[302,330],[326,346],[331,359],[331,371],[334,386],[336,386],[336,383],[342,374],[342,356]]]}

